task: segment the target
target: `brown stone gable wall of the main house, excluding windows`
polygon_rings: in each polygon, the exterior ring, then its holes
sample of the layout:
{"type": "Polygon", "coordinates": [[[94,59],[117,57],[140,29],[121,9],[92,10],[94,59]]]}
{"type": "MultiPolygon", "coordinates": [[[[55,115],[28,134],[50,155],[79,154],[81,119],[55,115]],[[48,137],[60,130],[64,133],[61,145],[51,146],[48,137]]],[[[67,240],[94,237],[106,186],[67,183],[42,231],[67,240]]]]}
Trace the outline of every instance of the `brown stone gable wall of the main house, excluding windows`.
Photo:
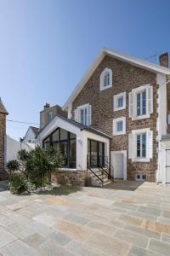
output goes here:
{"type": "Polygon", "coordinates": [[[113,119],[126,117],[126,134],[111,139],[111,151],[127,150],[127,178],[135,179],[136,174],[145,174],[147,181],[156,181],[156,73],[151,73],[140,67],[134,67],[124,61],[116,60],[111,56],[105,56],[99,67],[94,71],[88,82],[84,85],[74,102],[72,102],[72,115],[74,110],[83,104],[92,106],[92,126],[112,136],[113,119]],[[99,77],[105,67],[111,68],[113,73],[113,85],[111,88],[99,90],[99,77]],[[132,120],[129,118],[128,94],[133,88],[143,84],[153,86],[153,113],[150,119],[132,120]],[[126,91],[126,109],[113,111],[113,96],[126,91]],[[153,158],[150,162],[132,162],[128,159],[128,134],[132,130],[150,128],[153,131],[153,158]]]}

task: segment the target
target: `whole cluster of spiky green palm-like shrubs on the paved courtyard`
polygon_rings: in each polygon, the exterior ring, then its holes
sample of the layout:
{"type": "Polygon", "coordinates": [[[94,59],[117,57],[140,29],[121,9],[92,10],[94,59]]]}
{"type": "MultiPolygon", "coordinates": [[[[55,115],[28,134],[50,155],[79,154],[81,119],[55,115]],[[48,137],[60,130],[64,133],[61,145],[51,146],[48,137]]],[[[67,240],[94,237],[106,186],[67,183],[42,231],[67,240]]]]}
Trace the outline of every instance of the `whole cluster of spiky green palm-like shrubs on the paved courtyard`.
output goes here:
{"type": "Polygon", "coordinates": [[[7,164],[10,173],[20,173],[9,178],[9,189],[12,193],[21,193],[29,189],[29,183],[42,187],[51,182],[51,174],[63,164],[63,155],[56,153],[54,148],[37,147],[30,152],[22,149],[18,152],[18,160],[10,160],[7,164]]]}

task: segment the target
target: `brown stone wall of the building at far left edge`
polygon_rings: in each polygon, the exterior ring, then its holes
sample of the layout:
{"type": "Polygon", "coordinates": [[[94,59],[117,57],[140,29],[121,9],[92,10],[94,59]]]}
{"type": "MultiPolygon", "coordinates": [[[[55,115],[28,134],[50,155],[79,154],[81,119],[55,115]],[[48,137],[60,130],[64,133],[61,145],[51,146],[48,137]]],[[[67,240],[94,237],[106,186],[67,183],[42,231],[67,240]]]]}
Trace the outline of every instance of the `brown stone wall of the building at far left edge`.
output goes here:
{"type": "Polygon", "coordinates": [[[6,135],[6,114],[0,112],[0,180],[5,178],[6,176],[4,172],[5,135],[6,135]]]}

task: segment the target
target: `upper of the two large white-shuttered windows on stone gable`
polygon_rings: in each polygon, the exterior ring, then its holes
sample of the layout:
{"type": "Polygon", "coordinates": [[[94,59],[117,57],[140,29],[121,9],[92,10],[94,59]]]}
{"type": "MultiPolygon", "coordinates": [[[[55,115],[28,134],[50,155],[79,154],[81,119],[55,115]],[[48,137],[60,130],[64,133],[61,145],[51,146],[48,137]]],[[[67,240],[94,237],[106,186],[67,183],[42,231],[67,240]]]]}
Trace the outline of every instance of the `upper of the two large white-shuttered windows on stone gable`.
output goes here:
{"type": "Polygon", "coordinates": [[[142,85],[129,93],[129,117],[135,119],[150,118],[153,113],[153,87],[142,85]]]}

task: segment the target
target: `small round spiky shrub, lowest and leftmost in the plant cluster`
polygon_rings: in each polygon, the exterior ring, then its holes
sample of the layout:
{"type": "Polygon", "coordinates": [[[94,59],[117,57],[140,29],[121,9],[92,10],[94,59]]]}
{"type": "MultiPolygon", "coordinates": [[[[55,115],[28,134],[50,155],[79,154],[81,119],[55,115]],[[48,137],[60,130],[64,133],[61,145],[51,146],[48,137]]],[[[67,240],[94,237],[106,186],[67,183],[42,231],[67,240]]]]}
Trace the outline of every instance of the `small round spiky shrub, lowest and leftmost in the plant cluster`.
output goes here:
{"type": "Polygon", "coordinates": [[[28,182],[22,174],[14,174],[9,178],[9,189],[13,194],[28,192],[28,182]]]}

